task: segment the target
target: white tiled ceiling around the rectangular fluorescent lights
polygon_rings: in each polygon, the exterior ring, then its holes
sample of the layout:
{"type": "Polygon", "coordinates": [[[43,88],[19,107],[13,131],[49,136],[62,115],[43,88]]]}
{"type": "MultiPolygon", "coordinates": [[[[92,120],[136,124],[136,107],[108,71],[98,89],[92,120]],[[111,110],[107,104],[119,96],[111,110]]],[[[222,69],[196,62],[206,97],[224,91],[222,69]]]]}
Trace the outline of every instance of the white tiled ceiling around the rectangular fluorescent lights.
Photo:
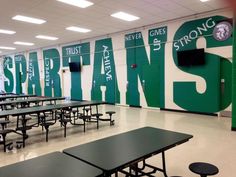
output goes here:
{"type": "MultiPolygon", "coordinates": [[[[83,40],[146,26],[166,20],[217,10],[225,7],[222,0],[90,0],[94,3],[85,9],[66,5],[56,0],[0,0],[0,28],[16,31],[14,35],[0,34],[0,46],[15,47],[15,52],[47,47],[55,44],[83,40]],[[140,20],[125,22],[111,17],[124,11],[139,16],[140,20]],[[34,25],[11,18],[17,14],[47,21],[34,25]],[[92,30],[82,34],[65,30],[68,26],[81,26],[92,30]],[[38,34],[51,35],[57,41],[36,39],[38,34]],[[33,42],[34,46],[14,45],[15,41],[33,42]]],[[[13,51],[0,50],[0,55],[13,51]]]]}

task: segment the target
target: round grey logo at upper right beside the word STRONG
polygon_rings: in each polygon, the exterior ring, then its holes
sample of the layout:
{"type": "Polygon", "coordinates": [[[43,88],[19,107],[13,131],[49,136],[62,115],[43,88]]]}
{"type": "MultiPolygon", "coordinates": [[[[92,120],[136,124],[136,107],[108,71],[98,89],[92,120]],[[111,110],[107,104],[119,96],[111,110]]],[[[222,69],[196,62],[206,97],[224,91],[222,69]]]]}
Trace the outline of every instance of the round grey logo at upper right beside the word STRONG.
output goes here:
{"type": "Polygon", "coordinates": [[[226,41],[232,35],[232,25],[229,22],[218,23],[213,31],[213,36],[217,41],[226,41]]]}

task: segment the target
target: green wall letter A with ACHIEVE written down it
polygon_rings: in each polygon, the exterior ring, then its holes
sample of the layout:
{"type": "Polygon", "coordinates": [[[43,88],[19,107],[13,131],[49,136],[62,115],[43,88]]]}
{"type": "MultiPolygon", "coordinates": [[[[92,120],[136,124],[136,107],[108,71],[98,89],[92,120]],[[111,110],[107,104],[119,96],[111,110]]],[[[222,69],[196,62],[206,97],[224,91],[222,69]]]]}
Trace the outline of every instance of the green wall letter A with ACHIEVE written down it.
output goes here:
{"type": "Polygon", "coordinates": [[[111,38],[98,40],[95,43],[92,100],[102,100],[101,86],[106,87],[105,100],[108,103],[120,102],[111,38]]]}

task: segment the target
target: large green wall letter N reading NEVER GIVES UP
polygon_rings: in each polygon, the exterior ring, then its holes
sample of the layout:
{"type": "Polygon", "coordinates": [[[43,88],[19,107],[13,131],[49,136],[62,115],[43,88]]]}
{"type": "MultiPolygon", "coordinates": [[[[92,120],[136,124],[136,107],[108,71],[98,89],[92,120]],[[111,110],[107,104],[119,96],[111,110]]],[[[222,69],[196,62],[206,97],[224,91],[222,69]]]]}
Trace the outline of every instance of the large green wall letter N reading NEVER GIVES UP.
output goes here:
{"type": "Polygon", "coordinates": [[[164,59],[166,40],[167,27],[149,30],[149,62],[142,33],[137,32],[125,35],[128,74],[127,104],[140,106],[139,77],[147,105],[151,107],[165,107],[164,59]]]}

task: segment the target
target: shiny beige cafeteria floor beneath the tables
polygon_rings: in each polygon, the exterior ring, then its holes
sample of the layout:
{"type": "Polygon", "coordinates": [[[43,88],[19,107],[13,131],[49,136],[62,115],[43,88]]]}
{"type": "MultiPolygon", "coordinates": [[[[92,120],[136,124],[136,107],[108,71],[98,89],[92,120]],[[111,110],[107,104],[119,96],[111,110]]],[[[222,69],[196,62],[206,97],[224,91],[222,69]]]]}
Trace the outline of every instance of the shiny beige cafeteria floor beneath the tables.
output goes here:
{"type": "MultiPolygon", "coordinates": [[[[197,161],[209,162],[218,166],[220,170],[220,173],[216,175],[218,177],[235,176],[236,132],[230,131],[230,118],[121,106],[100,107],[100,112],[104,113],[107,110],[116,111],[114,126],[110,126],[108,122],[102,122],[100,129],[97,130],[96,124],[88,124],[85,133],[83,127],[68,126],[67,138],[64,138],[63,128],[57,124],[50,128],[48,143],[45,142],[45,132],[42,132],[41,128],[30,130],[28,133],[30,137],[26,141],[24,149],[14,148],[13,151],[4,153],[0,146],[0,166],[53,151],[62,151],[68,147],[139,127],[152,126],[194,136],[189,142],[166,152],[169,176],[197,177],[188,170],[188,165],[197,161]]],[[[14,139],[14,137],[10,138],[14,139]]],[[[150,158],[149,162],[160,165],[160,156],[150,158]]],[[[156,174],[156,176],[162,175],[156,174]]],[[[1,174],[0,177],[2,177],[1,174]]]]}

